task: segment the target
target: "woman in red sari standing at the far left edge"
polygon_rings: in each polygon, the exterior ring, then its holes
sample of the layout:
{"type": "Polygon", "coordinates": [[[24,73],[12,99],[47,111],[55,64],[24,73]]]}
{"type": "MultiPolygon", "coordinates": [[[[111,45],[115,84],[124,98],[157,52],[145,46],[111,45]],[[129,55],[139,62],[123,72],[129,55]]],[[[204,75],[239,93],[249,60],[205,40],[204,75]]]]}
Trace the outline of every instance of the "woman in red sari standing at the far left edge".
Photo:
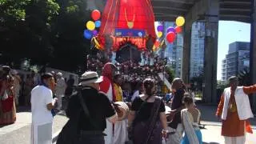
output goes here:
{"type": "Polygon", "coordinates": [[[9,66],[3,66],[3,71],[0,80],[0,125],[8,125],[16,121],[14,78],[9,74],[9,66]]]}

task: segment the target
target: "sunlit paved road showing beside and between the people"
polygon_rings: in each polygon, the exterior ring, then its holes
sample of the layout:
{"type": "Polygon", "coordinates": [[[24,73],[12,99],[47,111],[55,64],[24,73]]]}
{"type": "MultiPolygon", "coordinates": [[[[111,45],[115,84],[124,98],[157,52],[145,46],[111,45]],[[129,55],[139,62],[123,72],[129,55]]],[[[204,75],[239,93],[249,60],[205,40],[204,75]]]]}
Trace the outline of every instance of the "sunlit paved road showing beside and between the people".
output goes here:
{"type": "MultiPolygon", "coordinates": [[[[221,136],[221,123],[215,118],[214,113],[217,106],[199,105],[198,108],[202,113],[202,129],[203,142],[206,144],[222,144],[224,139],[221,136]]],[[[54,133],[62,129],[67,122],[66,116],[58,114],[54,117],[54,133]]],[[[246,144],[256,143],[256,118],[251,119],[254,134],[247,134],[246,144]]],[[[0,143],[6,144],[29,144],[30,143],[30,112],[22,111],[17,113],[17,122],[10,126],[0,127],[0,143]]]]}

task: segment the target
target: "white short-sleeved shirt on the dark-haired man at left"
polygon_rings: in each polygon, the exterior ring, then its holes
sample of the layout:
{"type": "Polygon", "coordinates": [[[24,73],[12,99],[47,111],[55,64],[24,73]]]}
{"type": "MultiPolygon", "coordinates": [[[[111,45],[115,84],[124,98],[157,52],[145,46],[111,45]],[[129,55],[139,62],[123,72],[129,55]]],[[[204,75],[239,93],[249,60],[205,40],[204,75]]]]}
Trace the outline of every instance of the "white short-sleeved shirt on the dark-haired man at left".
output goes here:
{"type": "Polygon", "coordinates": [[[31,91],[32,122],[45,124],[53,122],[53,115],[47,109],[47,104],[53,102],[53,93],[46,86],[35,86],[31,91]]]}

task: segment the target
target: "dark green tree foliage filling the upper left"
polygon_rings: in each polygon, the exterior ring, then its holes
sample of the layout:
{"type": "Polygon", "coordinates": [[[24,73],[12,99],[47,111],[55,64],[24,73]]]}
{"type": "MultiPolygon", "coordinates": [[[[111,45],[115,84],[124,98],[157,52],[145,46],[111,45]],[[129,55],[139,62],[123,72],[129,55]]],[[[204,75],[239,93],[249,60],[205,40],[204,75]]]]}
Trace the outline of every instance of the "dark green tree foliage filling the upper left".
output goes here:
{"type": "Polygon", "coordinates": [[[81,69],[89,14],[82,0],[0,0],[0,62],[81,69]]]}

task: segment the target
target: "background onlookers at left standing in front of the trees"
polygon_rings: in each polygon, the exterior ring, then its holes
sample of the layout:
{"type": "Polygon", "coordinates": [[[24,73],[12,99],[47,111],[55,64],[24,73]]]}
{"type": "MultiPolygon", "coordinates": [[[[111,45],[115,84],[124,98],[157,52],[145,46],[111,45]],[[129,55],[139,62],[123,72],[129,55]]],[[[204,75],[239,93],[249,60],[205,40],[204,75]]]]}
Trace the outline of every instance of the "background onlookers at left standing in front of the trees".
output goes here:
{"type": "MultiPolygon", "coordinates": [[[[16,121],[16,110],[19,106],[31,106],[31,90],[34,86],[42,83],[42,74],[37,74],[33,70],[30,72],[20,73],[11,69],[10,66],[0,66],[0,125],[7,125],[16,121]]],[[[54,97],[58,98],[56,110],[62,110],[67,105],[66,99],[70,97],[74,89],[74,76],[70,78],[62,77],[62,73],[55,73],[54,75],[54,97]],[[62,98],[65,98],[62,102],[62,98]],[[62,106],[62,103],[64,106],[62,106]]]]}

